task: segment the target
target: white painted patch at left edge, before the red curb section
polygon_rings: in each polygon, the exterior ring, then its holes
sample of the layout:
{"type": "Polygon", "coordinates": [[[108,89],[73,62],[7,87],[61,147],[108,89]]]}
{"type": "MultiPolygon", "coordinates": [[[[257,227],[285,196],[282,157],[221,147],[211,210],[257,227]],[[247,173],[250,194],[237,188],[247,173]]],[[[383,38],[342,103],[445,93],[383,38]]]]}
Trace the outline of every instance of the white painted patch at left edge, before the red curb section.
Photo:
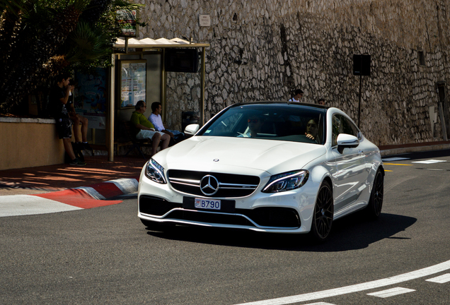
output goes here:
{"type": "Polygon", "coordinates": [[[0,196],[0,217],[83,210],[57,201],[30,195],[0,196]]]}

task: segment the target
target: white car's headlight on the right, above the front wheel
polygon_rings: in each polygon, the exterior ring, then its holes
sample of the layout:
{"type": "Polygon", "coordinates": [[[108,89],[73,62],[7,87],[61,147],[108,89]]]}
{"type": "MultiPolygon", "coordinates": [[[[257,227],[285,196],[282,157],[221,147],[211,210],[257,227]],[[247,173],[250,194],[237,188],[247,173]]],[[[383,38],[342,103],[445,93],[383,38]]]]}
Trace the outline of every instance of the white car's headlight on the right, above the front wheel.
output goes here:
{"type": "Polygon", "coordinates": [[[280,191],[299,189],[300,186],[306,184],[308,177],[309,172],[306,170],[277,174],[270,177],[269,182],[267,182],[267,185],[262,191],[264,193],[278,193],[280,191]]]}

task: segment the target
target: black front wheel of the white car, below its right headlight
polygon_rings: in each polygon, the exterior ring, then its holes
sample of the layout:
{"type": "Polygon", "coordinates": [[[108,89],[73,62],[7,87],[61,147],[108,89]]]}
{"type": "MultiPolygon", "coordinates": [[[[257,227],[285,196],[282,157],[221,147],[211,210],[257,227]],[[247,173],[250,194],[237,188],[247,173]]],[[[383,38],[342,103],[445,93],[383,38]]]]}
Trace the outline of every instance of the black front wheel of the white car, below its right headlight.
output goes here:
{"type": "Polygon", "coordinates": [[[325,241],[330,235],[333,215],[333,192],[328,181],[323,181],[317,194],[313,223],[311,224],[311,234],[316,241],[325,241]]]}

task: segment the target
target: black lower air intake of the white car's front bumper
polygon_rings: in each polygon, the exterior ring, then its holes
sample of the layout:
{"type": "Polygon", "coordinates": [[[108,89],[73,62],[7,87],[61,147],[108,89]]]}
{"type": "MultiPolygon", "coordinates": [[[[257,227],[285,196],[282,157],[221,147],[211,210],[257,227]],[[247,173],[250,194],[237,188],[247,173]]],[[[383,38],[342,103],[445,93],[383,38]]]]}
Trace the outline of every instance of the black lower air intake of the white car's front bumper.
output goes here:
{"type": "Polygon", "coordinates": [[[261,227],[298,228],[301,226],[299,215],[292,208],[255,208],[254,210],[236,209],[234,213],[197,212],[183,209],[182,203],[171,203],[161,198],[152,196],[139,197],[139,212],[162,216],[171,210],[167,218],[173,220],[188,220],[195,222],[209,222],[221,225],[255,226],[250,220],[261,227]],[[178,210],[173,210],[178,208],[178,210]]]}

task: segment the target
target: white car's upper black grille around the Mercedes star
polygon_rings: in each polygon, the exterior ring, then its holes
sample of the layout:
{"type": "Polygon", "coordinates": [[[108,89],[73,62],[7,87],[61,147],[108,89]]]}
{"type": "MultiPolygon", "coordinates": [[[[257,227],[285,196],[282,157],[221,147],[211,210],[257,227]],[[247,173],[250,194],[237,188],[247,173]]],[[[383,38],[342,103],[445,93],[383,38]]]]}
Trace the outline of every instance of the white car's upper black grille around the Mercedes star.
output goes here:
{"type": "MultiPolygon", "coordinates": [[[[215,198],[234,198],[248,196],[258,188],[260,178],[248,175],[221,174],[214,172],[193,172],[179,169],[169,169],[168,180],[173,189],[183,193],[189,193],[195,196],[207,196],[215,198]],[[217,192],[202,192],[202,179],[206,176],[212,176],[219,182],[217,192]],[[212,193],[212,194],[210,194],[212,193]]],[[[213,179],[213,181],[215,181],[213,179]]],[[[215,187],[216,185],[214,185],[215,187]]]]}

